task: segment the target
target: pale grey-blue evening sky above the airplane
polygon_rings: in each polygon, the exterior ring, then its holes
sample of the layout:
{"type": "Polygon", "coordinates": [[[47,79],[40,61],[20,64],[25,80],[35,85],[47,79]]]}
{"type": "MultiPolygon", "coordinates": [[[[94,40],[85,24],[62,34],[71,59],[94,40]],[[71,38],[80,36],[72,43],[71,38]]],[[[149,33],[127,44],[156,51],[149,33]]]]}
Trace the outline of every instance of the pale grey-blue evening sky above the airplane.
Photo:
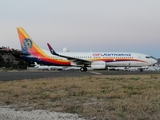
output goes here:
{"type": "Polygon", "coordinates": [[[17,27],[60,52],[138,52],[160,58],[160,0],[0,0],[0,46],[17,27]]]}

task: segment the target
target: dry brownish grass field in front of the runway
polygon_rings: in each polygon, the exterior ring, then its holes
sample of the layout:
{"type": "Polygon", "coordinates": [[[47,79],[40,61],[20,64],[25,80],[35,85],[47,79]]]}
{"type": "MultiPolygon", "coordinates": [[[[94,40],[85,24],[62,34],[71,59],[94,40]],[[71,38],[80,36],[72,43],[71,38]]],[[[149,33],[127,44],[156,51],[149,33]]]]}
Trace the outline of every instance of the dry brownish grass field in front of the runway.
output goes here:
{"type": "Polygon", "coordinates": [[[86,119],[160,119],[160,75],[61,77],[0,82],[0,104],[78,113],[86,119]]]}

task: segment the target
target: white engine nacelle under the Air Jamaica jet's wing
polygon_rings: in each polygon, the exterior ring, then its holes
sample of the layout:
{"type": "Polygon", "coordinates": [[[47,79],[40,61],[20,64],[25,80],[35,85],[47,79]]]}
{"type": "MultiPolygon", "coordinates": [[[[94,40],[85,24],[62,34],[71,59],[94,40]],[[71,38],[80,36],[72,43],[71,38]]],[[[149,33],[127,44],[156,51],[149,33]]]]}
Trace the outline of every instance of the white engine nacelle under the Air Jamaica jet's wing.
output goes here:
{"type": "Polygon", "coordinates": [[[92,69],[106,69],[106,62],[104,61],[93,61],[91,63],[92,69]]]}

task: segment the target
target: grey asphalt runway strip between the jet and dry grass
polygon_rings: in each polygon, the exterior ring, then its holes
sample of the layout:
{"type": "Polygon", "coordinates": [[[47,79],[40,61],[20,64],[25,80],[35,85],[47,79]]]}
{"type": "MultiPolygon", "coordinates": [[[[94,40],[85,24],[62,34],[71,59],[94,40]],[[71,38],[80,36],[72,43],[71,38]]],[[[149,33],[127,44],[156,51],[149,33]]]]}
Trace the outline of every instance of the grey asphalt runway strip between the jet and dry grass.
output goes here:
{"type": "Polygon", "coordinates": [[[40,79],[51,77],[73,77],[73,76],[92,76],[92,75],[133,75],[133,74],[159,74],[160,71],[107,71],[93,70],[87,72],[80,71],[8,71],[0,72],[0,81],[24,80],[24,79],[40,79]]]}

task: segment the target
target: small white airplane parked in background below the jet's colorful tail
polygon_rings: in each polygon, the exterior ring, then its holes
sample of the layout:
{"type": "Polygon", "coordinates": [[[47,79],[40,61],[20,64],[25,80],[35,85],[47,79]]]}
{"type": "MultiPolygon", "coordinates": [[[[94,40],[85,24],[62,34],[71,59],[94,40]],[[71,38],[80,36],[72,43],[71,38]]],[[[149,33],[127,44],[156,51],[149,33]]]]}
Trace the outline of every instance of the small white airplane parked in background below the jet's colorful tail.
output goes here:
{"type": "Polygon", "coordinates": [[[61,66],[40,65],[40,64],[37,64],[37,62],[34,62],[34,64],[35,64],[34,68],[38,70],[65,70],[66,68],[61,66]]]}

